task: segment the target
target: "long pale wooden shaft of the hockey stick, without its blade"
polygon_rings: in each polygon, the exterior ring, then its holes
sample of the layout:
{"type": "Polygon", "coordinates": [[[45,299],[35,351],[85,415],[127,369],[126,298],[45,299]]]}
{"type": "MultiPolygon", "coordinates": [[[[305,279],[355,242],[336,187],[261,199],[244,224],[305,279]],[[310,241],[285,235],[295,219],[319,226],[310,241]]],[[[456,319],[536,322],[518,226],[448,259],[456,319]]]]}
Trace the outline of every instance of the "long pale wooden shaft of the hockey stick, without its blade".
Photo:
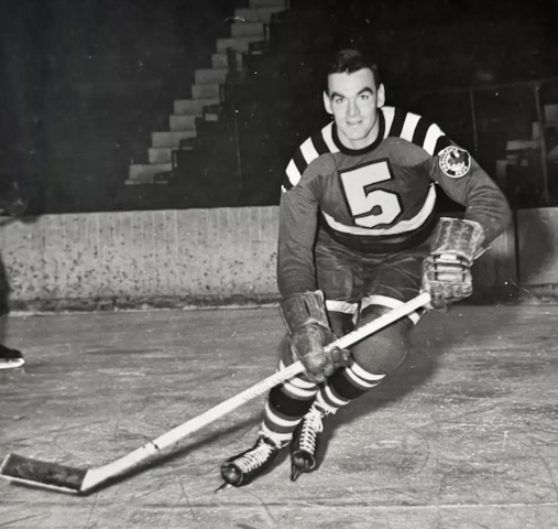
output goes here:
{"type": "MultiPolygon", "coordinates": [[[[329,344],[328,348],[331,347],[347,348],[355,344],[357,342],[360,342],[361,339],[365,338],[366,336],[370,336],[371,334],[386,327],[391,323],[394,323],[397,320],[416,311],[417,309],[426,305],[429,301],[430,301],[429,294],[426,293],[419,294],[418,296],[414,298],[407,303],[404,303],[403,305],[390,311],[387,314],[384,314],[379,319],[368,323],[366,325],[357,328],[352,333],[346,334],[341,338],[329,344]]],[[[154,455],[168,446],[172,446],[173,444],[183,440],[187,435],[197,432],[201,428],[210,424],[211,422],[215,422],[216,420],[220,419],[227,413],[230,413],[237,408],[240,408],[245,402],[249,402],[250,400],[265,393],[266,391],[274,388],[278,384],[284,382],[285,380],[288,380],[302,373],[304,373],[304,366],[300,361],[296,361],[291,366],[288,366],[287,368],[276,371],[275,374],[265,378],[261,382],[258,382],[256,385],[245,389],[244,391],[236,395],[234,397],[231,397],[230,399],[221,402],[220,404],[217,404],[216,407],[207,410],[200,415],[195,417],[194,419],[190,419],[184,424],[180,424],[179,427],[176,427],[173,430],[164,433],[154,441],[151,441],[144,444],[143,446],[134,450],[130,454],[124,455],[123,457],[114,461],[113,463],[110,463],[99,468],[99,471],[102,469],[105,478],[116,476],[124,472],[125,469],[135,466],[136,464],[141,463],[149,456],[154,455]]]]}

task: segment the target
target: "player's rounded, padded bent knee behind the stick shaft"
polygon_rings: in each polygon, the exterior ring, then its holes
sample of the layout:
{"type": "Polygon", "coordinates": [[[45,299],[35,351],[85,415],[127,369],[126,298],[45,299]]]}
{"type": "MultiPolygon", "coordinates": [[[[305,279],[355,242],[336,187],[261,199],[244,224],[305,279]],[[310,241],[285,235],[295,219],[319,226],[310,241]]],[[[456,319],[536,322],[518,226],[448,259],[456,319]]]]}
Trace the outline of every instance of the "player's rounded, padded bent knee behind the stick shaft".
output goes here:
{"type": "MultiPolygon", "coordinates": [[[[387,312],[389,307],[369,305],[360,314],[357,327],[387,312]]],[[[374,375],[389,375],[407,357],[412,327],[413,322],[405,317],[362,339],[350,348],[354,361],[374,375]]]]}

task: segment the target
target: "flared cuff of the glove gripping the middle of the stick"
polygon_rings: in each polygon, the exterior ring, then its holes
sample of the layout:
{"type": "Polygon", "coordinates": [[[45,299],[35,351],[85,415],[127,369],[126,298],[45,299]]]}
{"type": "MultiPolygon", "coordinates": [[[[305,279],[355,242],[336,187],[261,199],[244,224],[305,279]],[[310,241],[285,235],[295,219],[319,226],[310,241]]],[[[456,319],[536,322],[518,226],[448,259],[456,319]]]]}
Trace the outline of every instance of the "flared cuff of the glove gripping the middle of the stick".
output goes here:
{"type": "Polygon", "coordinates": [[[280,309],[291,334],[310,323],[329,328],[324,293],[320,290],[288,295],[281,302],[280,309]]]}

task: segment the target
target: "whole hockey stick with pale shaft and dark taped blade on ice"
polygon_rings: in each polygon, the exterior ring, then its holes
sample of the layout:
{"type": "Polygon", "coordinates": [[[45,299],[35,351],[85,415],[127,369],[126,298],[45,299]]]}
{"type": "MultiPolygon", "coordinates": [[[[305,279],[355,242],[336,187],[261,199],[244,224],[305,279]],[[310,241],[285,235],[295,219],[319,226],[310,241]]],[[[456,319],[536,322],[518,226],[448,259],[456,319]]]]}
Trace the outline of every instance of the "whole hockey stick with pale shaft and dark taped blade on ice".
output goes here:
{"type": "MultiPolygon", "coordinates": [[[[357,328],[341,338],[335,341],[328,347],[347,348],[357,342],[370,336],[371,334],[386,327],[391,323],[411,314],[417,309],[426,305],[430,301],[430,295],[423,293],[413,300],[390,311],[366,325],[357,328]]],[[[300,361],[292,364],[261,382],[245,389],[237,396],[217,404],[194,419],[174,428],[164,433],[154,441],[150,441],[133,452],[120,457],[119,460],[97,468],[76,468],[57,463],[48,463],[32,457],[25,457],[18,454],[9,454],[0,468],[0,475],[7,479],[32,485],[36,487],[53,488],[66,493],[85,494],[97,488],[102,483],[124,474],[131,468],[138,466],[152,455],[160,454],[163,450],[176,444],[187,435],[197,432],[201,428],[215,422],[217,419],[230,413],[245,402],[265,393],[296,375],[304,373],[304,366],[300,361]]]]}

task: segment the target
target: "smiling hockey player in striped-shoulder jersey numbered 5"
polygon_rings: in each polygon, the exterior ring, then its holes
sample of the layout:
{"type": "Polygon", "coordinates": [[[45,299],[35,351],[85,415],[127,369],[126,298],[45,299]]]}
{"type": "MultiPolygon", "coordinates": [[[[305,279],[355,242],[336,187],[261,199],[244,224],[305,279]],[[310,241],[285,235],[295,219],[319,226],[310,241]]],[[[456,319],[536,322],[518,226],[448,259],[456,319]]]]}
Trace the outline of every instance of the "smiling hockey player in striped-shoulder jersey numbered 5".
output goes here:
{"type": "Polygon", "coordinates": [[[347,350],[324,346],[415,298],[446,310],[472,292],[471,264],[511,222],[507,202],[464,149],[425,118],[384,106],[378,67],[343,50],[329,66],[332,122],[286,169],[277,281],[287,347],[303,376],[269,396],[256,443],[221,466],[242,486],[291,446],[292,479],[316,468],[324,420],[380,385],[407,355],[413,313],[347,350]],[[438,190],[466,206],[436,216],[438,190]]]}

